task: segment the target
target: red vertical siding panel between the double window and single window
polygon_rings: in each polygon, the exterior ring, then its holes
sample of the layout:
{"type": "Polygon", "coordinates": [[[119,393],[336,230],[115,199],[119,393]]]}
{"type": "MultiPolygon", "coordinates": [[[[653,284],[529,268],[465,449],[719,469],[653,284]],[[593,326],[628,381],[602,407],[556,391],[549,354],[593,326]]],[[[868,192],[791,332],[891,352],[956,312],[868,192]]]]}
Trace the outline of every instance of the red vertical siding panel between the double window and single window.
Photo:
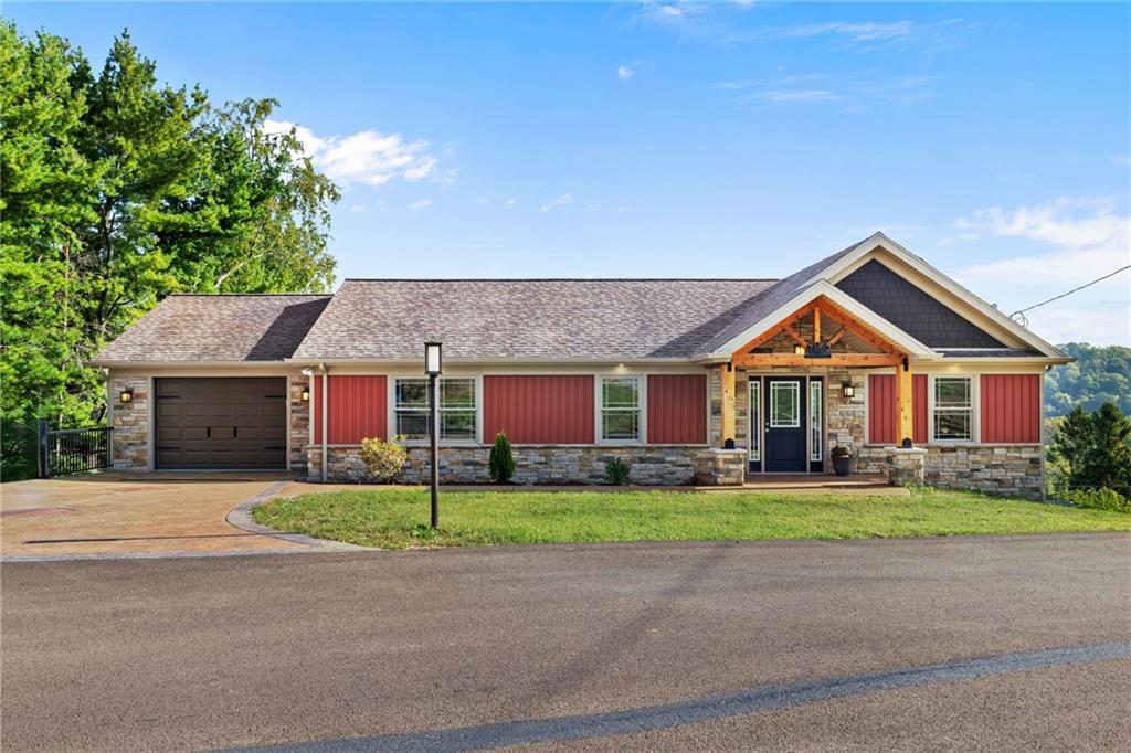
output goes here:
{"type": "Polygon", "coordinates": [[[483,378],[483,441],[506,432],[516,444],[593,444],[593,376],[483,378]]]}

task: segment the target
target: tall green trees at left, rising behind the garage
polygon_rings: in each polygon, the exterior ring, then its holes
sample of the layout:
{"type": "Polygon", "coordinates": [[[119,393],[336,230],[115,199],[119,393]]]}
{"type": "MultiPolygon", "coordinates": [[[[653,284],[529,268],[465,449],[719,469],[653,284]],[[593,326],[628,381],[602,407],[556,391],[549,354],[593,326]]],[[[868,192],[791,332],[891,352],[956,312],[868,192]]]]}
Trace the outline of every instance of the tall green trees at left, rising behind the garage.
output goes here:
{"type": "Polygon", "coordinates": [[[97,72],[45,32],[0,24],[0,474],[18,426],[104,407],[86,362],[180,291],[322,291],[334,184],[276,102],[215,105],[159,84],[128,33],[97,72]]]}

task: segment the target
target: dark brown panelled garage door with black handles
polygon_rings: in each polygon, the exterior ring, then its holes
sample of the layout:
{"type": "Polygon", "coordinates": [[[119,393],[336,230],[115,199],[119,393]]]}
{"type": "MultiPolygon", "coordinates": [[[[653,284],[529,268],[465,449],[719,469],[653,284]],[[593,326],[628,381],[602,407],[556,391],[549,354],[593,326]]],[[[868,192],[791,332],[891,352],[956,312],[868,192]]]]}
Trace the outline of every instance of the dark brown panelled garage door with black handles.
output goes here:
{"type": "Polygon", "coordinates": [[[286,467],[286,380],[158,379],[156,466],[286,467]]]}

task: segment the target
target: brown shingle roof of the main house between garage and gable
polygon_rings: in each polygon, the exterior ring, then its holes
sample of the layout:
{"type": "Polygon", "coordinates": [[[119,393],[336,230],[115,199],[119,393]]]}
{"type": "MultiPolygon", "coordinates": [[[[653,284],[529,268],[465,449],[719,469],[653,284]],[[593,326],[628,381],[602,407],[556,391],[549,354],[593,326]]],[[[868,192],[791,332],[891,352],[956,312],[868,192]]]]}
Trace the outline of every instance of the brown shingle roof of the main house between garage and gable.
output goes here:
{"type": "Polygon", "coordinates": [[[679,358],[697,355],[772,285],[760,279],[346,280],[302,360],[679,358]]]}

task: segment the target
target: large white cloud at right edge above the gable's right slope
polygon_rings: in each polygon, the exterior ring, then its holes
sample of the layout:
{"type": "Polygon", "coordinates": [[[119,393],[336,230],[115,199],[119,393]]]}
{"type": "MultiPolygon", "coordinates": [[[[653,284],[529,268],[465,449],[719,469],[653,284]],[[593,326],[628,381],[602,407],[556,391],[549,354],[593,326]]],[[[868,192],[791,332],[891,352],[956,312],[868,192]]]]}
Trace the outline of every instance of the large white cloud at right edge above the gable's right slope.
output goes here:
{"type": "Polygon", "coordinates": [[[958,272],[964,279],[1071,286],[1106,275],[1131,259],[1131,217],[1116,211],[1110,199],[1061,198],[1013,210],[991,207],[958,218],[955,228],[962,241],[1015,237],[1055,249],[969,265],[958,272]]]}

